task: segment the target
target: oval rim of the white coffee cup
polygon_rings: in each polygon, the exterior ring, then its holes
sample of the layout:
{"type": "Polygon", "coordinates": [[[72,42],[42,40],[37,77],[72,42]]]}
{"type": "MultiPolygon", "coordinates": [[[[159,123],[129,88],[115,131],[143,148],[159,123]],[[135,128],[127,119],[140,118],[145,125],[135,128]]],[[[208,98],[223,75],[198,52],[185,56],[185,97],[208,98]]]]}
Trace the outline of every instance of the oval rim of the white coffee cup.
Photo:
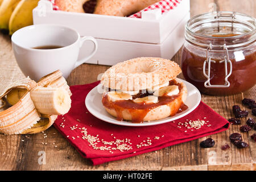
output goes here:
{"type": "Polygon", "coordinates": [[[19,30],[15,31],[13,35],[11,35],[11,42],[13,42],[14,44],[16,44],[16,46],[22,47],[23,49],[29,50],[29,51],[37,51],[37,52],[45,52],[45,51],[57,51],[57,50],[61,50],[61,49],[67,49],[71,46],[73,46],[73,44],[76,44],[80,39],[80,34],[79,32],[77,32],[75,29],[67,27],[67,26],[63,26],[63,25],[59,25],[59,24],[51,24],[51,23],[43,23],[43,24],[33,24],[31,26],[26,26],[23,28],[20,28],[19,30]],[[77,34],[77,39],[75,42],[73,42],[72,44],[69,44],[68,46],[64,46],[64,47],[60,47],[60,48],[55,48],[55,49],[35,49],[35,48],[30,48],[30,47],[25,47],[20,45],[19,43],[15,42],[15,36],[18,36],[20,32],[27,30],[31,27],[61,27],[61,28],[66,28],[68,30],[71,30],[73,32],[75,32],[77,34]]]}

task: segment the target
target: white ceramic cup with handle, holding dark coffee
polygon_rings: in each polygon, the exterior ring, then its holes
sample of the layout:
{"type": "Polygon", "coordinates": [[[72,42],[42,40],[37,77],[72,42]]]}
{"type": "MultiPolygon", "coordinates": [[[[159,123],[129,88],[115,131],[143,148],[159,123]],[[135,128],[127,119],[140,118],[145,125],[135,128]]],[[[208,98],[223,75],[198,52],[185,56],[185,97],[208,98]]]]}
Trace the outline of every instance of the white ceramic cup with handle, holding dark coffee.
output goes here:
{"type": "Polygon", "coordinates": [[[72,28],[56,24],[36,24],[21,28],[11,36],[16,61],[25,76],[38,81],[59,69],[65,78],[71,71],[85,63],[97,51],[92,36],[80,37],[72,28]],[[82,44],[90,40],[94,49],[89,56],[77,60],[82,44]],[[40,46],[60,46],[55,49],[35,49],[40,46]]]}

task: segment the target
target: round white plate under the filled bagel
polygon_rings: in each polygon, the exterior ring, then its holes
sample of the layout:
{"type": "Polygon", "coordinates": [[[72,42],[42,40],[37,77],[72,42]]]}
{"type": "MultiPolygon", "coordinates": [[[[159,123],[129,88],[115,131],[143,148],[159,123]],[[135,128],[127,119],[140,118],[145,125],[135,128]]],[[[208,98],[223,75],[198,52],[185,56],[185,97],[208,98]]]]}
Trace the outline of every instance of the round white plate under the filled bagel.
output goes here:
{"type": "Polygon", "coordinates": [[[179,119],[181,117],[184,117],[185,115],[191,113],[191,111],[195,110],[196,107],[200,104],[201,101],[201,94],[197,88],[190,84],[187,81],[181,80],[177,78],[177,80],[183,81],[184,84],[187,86],[188,95],[187,100],[185,101],[185,105],[188,106],[188,109],[185,111],[182,111],[181,113],[177,113],[176,115],[172,117],[167,117],[164,119],[159,119],[156,121],[150,121],[150,122],[143,122],[143,123],[131,123],[127,121],[118,121],[107,113],[107,111],[104,109],[101,98],[102,93],[98,92],[98,90],[101,90],[102,85],[97,85],[95,88],[90,90],[88,95],[85,98],[85,106],[87,107],[88,111],[94,115],[96,118],[101,119],[102,121],[106,121],[115,125],[123,125],[123,126],[151,126],[151,125],[159,125],[162,123],[174,121],[176,119],[179,119]]]}

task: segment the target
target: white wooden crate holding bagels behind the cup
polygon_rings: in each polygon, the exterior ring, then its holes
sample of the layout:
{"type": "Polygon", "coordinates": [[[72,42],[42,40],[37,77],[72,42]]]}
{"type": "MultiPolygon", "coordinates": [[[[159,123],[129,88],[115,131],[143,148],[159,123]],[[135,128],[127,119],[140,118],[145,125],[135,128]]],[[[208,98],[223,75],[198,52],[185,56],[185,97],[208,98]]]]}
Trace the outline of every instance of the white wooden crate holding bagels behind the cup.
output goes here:
{"type": "MultiPolygon", "coordinates": [[[[39,1],[33,10],[34,24],[61,24],[74,28],[81,36],[96,38],[98,51],[87,63],[104,65],[141,56],[171,59],[184,42],[188,19],[188,0],[155,19],[54,11],[46,0],[39,1]]],[[[91,49],[93,44],[86,42],[80,56],[89,54],[91,49]]]]}

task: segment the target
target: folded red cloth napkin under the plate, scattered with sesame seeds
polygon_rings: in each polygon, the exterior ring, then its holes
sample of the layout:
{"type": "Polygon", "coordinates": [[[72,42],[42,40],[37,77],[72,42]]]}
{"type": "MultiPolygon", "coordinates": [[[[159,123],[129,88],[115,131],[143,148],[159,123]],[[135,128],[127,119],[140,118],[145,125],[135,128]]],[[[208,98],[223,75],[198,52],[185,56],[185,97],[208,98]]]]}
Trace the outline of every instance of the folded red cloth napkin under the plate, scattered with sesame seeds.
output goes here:
{"type": "Polygon", "coordinates": [[[54,123],[56,129],[93,165],[159,150],[229,128],[229,122],[203,102],[185,117],[162,125],[129,127],[101,121],[85,107],[86,95],[98,83],[71,86],[71,110],[60,115],[54,123]],[[190,120],[205,123],[200,129],[188,129],[185,122],[190,120]]]}

